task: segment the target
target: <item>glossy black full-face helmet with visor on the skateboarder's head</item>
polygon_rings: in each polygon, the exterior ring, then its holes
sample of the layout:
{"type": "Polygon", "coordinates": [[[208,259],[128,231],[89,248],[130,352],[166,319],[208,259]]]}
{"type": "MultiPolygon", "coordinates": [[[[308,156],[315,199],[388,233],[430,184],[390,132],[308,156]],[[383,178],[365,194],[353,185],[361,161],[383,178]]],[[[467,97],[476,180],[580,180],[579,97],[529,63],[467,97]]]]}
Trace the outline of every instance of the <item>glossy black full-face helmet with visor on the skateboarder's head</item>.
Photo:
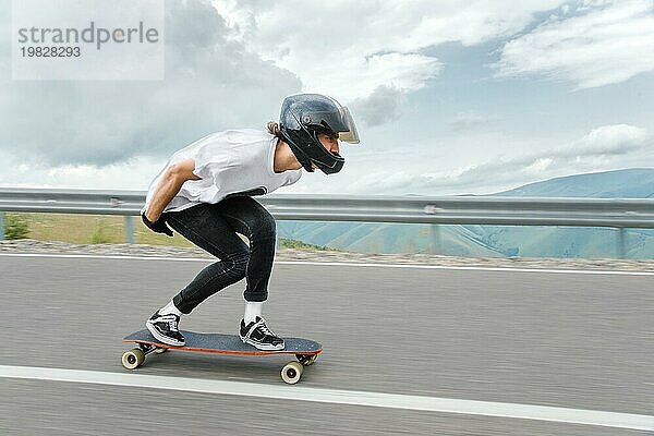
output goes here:
{"type": "Polygon", "coordinates": [[[315,164],[324,173],[343,168],[346,159],[325,149],[318,133],[338,136],[350,144],[359,143],[354,120],[347,107],[320,94],[296,94],[284,98],[279,116],[281,135],[306,171],[315,164]]]}

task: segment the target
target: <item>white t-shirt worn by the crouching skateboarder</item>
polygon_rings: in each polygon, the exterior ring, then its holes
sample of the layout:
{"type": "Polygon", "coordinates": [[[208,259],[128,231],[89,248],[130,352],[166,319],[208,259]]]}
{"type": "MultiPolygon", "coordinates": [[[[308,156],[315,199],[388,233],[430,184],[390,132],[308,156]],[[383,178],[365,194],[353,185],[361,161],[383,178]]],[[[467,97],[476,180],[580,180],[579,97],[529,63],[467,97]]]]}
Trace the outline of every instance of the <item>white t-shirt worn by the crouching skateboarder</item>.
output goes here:
{"type": "Polygon", "coordinates": [[[164,211],[184,210],[201,203],[218,203],[230,194],[263,195],[295,183],[302,169],[276,173],[274,169],[277,138],[268,132],[244,129],[207,135],[172,155],[150,183],[147,210],[155,189],[172,165],[193,158],[193,173],[202,180],[187,180],[164,211]]]}

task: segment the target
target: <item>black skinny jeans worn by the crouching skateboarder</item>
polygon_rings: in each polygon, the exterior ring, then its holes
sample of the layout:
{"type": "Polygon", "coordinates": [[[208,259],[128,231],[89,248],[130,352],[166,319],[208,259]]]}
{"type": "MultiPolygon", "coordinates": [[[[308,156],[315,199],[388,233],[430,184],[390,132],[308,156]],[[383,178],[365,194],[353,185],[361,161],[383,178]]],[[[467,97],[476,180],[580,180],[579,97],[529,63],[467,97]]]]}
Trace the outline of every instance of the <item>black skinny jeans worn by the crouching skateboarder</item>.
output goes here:
{"type": "Polygon", "coordinates": [[[168,225],[220,261],[206,268],[174,298],[185,314],[222,288],[246,278],[246,301],[266,301],[275,258],[275,218],[254,198],[229,197],[166,213],[168,225]],[[250,241],[250,247],[239,235],[250,241]]]}

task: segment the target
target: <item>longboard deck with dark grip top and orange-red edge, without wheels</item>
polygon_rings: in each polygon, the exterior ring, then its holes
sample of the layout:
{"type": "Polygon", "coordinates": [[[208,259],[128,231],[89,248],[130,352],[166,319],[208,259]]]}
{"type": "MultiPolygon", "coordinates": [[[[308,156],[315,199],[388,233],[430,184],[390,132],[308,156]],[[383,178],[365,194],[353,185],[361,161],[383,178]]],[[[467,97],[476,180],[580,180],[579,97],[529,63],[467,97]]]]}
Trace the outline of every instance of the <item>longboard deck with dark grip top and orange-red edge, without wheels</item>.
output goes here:
{"type": "Polygon", "coordinates": [[[270,355],[270,354],[305,354],[313,355],[323,351],[318,342],[303,338],[283,338],[283,350],[257,350],[251,344],[243,343],[235,335],[199,334],[180,330],[186,343],[182,347],[168,346],[155,339],[148,330],[135,331],[125,336],[123,342],[147,343],[158,348],[184,351],[199,351],[206,353],[240,354],[240,355],[270,355]]]}

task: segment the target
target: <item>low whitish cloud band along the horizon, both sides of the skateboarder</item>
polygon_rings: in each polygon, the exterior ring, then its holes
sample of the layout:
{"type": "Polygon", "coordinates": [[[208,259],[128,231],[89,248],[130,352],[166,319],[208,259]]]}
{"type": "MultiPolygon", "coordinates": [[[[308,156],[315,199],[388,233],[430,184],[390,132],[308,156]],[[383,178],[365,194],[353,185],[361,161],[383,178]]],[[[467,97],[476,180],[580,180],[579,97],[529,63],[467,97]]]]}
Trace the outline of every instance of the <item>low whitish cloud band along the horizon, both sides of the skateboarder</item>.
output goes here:
{"type": "MultiPolygon", "coordinates": [[[[506,147],[500,137],[495,141],[485,143],[484,147],[496,150],[506,147]]],[[[459,154],[465,154],[468,164],[451,168],[448,168],[451,165],[449,160],[437,162],[426,154],[424,161],[416,161],[420,155],[416,149],[410,154],[391,150],[377,156],[377,153],[352,147],[347,154],[348,164],[340,173],[305,174],[299,183],[277,193],[484,194],[560,175],[654,167],[653,135],[645,129],[629,124],[598,126],[559,146],[534,144],[524,140],[520,147],[514,147],[518,152],[513,155],[491,158],[473,153],[474,144],[460,144],[457,148],[459,154]],[[535,148],[541,150],[534,153],[535,148]],[[520,150],[523,150],[522,154],[520,150]]],[[[108,166],[50,167],[25,164],[0,153],[0,185],[146,190],[165,160],[141,156],[108,166]]]]}

